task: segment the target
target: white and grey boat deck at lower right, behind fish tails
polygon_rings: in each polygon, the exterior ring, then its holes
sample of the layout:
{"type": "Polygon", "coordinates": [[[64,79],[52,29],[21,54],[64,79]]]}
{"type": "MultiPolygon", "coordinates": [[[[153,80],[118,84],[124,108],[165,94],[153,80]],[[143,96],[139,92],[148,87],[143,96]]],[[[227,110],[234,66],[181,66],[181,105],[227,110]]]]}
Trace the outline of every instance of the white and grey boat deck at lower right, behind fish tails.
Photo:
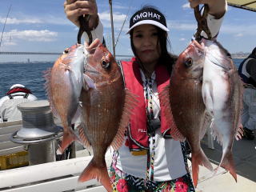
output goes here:
{"type": "MultiPolygon", "coordinates": [[[[210,162],[214,168],[218,166],[218,163],[222,157],[222,146],[217,142],[214,142],[214,150],[210,149],[207,145],[207,137],[202,139],[202,149],[205,151],[206,156],[210,159],[210,162]]],[[[200,166],[199,181],[197,192],[253,192],[256,188],[256,140],[249,141],[242,139],[234,141],[233,157],[238,174],[238,182],[234,181],[234,178],[230,173],[224,169],[218,170],[213,176],[210,170],[200,166]]]]}

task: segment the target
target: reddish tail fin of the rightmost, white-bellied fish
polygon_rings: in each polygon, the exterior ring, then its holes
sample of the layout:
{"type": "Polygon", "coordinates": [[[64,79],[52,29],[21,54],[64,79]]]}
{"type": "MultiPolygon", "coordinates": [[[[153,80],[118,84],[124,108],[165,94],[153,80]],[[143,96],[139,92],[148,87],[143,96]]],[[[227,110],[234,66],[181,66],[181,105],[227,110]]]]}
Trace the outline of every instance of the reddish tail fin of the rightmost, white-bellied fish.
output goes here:
{"type": "Polygon", "coordinates": [[[222,162],[220,163],[220,166],[222,166],[224,169],[230,171],[230,174],[233,176],[235,182],[238,182],[237,174],[234,169],[234,160],[233,160],[231,151],[230,152],[227,151],[225,154],[223,154],[222,162]]]}

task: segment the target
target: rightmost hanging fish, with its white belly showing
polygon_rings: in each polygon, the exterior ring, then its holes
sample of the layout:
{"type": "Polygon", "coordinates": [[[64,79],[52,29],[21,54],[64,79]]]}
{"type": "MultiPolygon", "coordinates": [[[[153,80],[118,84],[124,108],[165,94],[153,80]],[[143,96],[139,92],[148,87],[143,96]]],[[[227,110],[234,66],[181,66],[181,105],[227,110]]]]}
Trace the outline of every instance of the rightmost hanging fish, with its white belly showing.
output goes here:
{"type": "Polygon", "coordinates": [[[232,157],[242,111],[242,82],[232,58],[218,42],[203,40],[206,60],[203,70],[202,96],[211,115],[214,138],[222,144],[220,166],[237,180],[232,157]]]}

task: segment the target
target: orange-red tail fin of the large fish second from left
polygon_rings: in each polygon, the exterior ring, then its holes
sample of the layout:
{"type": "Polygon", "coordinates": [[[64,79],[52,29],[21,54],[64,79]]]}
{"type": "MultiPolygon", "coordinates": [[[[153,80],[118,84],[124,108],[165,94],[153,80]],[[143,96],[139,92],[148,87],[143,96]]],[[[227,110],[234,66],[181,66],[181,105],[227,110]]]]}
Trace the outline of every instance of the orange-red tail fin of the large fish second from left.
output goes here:
{"type": "Polygon", "coordinates": [[[98,182],[101,182],[102,185],[108,192],[112,192],[112,186],[110,183],[110,176],[106,169],[106,162],[104,161],[104,165],[99,167],[94,162],[94,158],[90,161],[89,165],[86,166],[86,169],[82,171],[82,174],[79,176],[79,182],[86,182],[90,179],[96,178],[98,182]]]}

